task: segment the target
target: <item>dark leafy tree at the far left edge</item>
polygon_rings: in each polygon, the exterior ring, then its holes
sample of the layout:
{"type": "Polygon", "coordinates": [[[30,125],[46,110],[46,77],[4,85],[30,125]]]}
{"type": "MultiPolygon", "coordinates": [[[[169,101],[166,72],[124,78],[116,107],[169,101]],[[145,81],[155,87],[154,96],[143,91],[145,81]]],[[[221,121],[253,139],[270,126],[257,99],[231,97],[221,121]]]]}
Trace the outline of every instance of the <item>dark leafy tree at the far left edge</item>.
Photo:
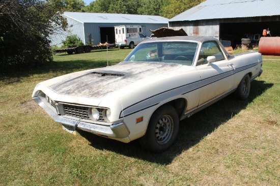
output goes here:
{"type": "Polygon", "coordinates": [[[56,0],[0,2],[0,69],[33,67],[52,60],[49,36],[66,29],[56,0]]]}

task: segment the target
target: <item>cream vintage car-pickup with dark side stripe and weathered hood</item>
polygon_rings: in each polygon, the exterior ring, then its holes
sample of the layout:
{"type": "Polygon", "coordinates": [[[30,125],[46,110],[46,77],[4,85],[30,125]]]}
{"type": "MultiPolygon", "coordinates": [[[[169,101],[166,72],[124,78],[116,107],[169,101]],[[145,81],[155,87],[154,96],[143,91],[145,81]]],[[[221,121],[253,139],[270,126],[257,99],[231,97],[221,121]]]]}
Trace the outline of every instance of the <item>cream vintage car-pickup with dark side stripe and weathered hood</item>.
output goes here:
{"type": "Polygon", "coordinates": [[[258,52],[230,55],[215,38],[166,37],[139,44],[121,63],[37,84],[32,98],[63,129],[161,152],[179,120],[229,94],[247,99],[262,73],[258,52]]]}

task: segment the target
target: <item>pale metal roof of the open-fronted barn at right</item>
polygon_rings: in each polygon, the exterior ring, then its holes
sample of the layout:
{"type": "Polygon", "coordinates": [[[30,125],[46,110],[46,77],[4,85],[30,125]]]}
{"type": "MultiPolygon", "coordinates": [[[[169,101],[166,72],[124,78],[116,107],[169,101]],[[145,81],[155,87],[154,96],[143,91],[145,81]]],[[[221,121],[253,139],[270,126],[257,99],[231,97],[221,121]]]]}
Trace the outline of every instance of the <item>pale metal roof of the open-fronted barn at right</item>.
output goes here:
{"type": "Polygon", "coordinates": [[[169,21],[280,15],[279,0],[207,0],[169,21]]]}

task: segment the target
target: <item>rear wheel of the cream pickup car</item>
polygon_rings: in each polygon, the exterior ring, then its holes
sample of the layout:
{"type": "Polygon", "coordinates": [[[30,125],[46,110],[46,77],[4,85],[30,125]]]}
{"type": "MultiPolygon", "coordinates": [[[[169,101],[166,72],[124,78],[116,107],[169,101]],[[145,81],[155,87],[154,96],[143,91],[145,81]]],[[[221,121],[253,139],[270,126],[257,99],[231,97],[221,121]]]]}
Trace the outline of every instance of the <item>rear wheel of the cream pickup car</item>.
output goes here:
{"type": "Polygon", "coordinates": [[[241,82],[239,83],[237,89],[234,92],[234,96],[238,100],[246,100],[250,93],[251,81],[250,76],[246,74],[241,82]]]}

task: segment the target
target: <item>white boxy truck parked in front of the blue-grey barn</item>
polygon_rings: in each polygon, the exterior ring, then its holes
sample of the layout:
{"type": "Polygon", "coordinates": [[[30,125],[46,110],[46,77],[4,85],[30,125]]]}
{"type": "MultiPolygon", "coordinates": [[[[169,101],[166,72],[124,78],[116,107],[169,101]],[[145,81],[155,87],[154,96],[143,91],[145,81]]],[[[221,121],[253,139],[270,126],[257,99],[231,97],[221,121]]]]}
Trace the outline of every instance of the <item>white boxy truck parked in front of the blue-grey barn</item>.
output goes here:
{"type": "Polygon", "coordinates": [[[115,26],[116,46],[134,48],[140,42],[150,39],[142,32],[140,25],[121,25],[115,26]]]}

